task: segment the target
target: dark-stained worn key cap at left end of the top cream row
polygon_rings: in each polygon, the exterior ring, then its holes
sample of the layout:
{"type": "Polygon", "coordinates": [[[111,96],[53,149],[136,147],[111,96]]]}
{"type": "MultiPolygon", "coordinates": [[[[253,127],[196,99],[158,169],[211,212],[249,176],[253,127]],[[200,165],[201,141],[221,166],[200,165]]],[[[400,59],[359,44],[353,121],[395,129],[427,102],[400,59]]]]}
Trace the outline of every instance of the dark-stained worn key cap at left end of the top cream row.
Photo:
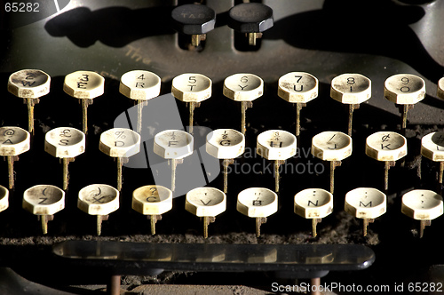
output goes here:
{"type": "Polygon", "coordinates": [[[23,69],[9,76],[8,91],[23,99],[38,99],[50,92],[51,77],[39,69],[23,69]]]}

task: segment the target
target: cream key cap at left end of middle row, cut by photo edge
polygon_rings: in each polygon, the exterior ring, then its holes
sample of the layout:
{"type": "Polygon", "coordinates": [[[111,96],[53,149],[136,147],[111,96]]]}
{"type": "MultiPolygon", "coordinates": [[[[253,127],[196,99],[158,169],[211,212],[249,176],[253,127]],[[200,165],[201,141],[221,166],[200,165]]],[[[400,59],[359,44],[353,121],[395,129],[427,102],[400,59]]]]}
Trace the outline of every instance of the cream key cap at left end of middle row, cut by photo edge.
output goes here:
{"type": "Polygon", "coordinates": [[[30,134],[20,127],[0,128],[0,155],[20,155],[29,150],[30,134]]]}

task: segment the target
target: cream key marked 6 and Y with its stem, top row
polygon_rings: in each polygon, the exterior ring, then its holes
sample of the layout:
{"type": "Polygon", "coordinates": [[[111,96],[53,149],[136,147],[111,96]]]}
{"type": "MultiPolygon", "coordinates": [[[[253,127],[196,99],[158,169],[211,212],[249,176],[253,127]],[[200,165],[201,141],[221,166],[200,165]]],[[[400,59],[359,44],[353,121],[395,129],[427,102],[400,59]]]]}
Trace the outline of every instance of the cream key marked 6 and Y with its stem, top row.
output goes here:
{"type": "Polygon", "coordinates": [[[231,100],[242,101],[241,132],[246,132],[246,111],[253,106],[252,101],[264,94],[264,81],[253,74],[234,74],[224,81],[224,95],[231,100]]]}

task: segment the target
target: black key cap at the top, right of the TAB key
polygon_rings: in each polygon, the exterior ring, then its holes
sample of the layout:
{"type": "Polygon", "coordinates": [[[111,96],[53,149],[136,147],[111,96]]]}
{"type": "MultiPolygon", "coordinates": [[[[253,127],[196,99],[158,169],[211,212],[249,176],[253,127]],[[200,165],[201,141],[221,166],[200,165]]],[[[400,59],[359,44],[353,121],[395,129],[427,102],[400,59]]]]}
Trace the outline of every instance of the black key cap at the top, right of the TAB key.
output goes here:
{"type": "Polygon", "coordinates": [[[265,4],[237,4],[230,9],[228,16],[228,26],[240,33],[264,32],[274,25],[273,9],[265,4]]]}

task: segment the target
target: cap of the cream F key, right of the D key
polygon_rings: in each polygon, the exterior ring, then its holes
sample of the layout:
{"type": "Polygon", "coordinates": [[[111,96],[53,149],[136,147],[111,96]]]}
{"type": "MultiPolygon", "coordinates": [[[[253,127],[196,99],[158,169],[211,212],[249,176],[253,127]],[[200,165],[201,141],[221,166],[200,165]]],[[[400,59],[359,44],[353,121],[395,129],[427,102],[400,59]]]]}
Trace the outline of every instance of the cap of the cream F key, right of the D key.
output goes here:
{"type": "Polygon", "coordinates": [[[181,130],[166,130],[155,135],[155,154],[164,159],[181,159],[193,154],[193,136],[181,130]]]}

